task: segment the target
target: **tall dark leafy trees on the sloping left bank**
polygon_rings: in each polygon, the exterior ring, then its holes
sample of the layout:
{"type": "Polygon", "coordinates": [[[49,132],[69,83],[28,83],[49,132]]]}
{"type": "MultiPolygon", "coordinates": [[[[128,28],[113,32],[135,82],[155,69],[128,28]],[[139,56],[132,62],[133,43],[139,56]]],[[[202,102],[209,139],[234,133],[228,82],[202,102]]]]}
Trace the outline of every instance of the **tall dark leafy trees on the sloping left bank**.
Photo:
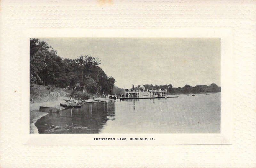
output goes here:
{"type": "Polygon", "coordinates": [[[86,92],[110,93],[116,80],[105,74],[100,63],[88,55],[63,59],[44,41],[30,39],[30,84],[72,88],[79,83],[86,92]]]}

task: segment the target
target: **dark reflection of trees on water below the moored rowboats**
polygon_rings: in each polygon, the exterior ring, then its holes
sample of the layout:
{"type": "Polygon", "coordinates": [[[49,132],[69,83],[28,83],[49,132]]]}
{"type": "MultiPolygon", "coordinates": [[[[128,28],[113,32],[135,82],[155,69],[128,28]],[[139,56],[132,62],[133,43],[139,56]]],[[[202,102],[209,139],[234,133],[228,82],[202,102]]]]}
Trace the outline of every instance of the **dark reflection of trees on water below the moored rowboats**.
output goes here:
{"type": "Polygon", "coordinates": [[[102,102],[83,105],[81,108],[69,108],[60,113],[49,113],[36,122],[39,133],[99,133],[108,120],[114,120],[115,103],[102,102]],[[85,130],[54,130],[50,125],[87,127],[85,130]]]}

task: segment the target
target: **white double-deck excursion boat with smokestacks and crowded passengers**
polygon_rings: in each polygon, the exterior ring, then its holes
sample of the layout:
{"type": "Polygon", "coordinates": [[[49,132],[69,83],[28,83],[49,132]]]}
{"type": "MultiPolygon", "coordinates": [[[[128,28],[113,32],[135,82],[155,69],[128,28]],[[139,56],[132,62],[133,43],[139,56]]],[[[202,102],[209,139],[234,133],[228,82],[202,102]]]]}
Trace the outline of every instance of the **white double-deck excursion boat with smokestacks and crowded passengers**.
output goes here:
{"type": "Polygon", "coordinates": [[[125,90],[124,97],[120,97],[120,100],[165,98],[166,93],[166,89],[146,91],[144,86],[140,86],[139,90],[134,91],[133,85],[133,89],[125,90]]]}

